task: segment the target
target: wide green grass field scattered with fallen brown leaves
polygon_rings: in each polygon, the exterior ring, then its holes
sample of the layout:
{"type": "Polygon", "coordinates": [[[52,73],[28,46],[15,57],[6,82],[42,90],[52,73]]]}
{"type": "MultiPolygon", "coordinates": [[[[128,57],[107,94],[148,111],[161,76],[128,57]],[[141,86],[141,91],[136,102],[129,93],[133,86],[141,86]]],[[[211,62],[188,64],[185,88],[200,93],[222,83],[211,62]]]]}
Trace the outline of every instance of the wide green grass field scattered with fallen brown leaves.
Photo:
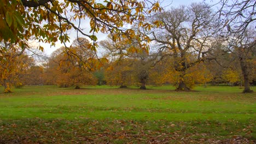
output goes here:
{"type": "Polygon", "coordinates": [[[27,86],[0,93],[0,143],[256,142],[255,92],[148,88],[27,86]]]}

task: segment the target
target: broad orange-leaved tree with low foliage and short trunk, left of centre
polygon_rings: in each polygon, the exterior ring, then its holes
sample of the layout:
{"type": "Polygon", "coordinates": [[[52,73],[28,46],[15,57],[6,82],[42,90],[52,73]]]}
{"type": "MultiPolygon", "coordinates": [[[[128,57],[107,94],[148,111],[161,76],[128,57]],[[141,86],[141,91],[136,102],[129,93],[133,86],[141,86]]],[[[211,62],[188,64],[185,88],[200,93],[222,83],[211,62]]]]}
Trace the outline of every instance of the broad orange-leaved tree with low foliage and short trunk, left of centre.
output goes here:
{"type": "Polygon", "coordinates": [[[92,72],[96,70],[98,63],[94,56],[95,52],[89,50],[89,40],[85,38],[78,38],[71,47],[61,47],[54,52],[57,85],[75,86],[77,89],[81,85],[95,85],[96,79],[92,72]]]}

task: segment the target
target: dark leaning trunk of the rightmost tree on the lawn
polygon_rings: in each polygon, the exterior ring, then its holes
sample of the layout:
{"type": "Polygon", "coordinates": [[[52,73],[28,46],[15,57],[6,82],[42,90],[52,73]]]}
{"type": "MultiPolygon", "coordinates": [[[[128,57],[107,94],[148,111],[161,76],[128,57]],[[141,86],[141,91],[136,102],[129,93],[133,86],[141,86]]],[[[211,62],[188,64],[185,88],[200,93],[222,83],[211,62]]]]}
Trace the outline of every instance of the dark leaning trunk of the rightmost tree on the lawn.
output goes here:
{"type": "Polygon", "coordinates": [[[249,68],[243,57],[240,57],[239,62],[243,74],[243,79],[245,80],[245,89],[243,90],[243,93],[251,93],[253,91],[250,89],[249,68]]]}

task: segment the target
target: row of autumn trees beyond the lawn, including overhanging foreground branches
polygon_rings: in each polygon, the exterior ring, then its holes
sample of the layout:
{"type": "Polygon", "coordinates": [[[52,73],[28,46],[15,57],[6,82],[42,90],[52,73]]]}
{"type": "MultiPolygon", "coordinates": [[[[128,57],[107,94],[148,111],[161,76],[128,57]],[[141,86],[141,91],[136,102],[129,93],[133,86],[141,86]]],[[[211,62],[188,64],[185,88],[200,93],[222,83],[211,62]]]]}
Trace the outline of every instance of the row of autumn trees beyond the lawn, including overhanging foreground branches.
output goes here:
{"type": "MultiPolygon", "coordinates": [[[[146,89],[146,85],[170,83],[177,91],[189,91],[199,83],[205,86],[206,83],[230,83],[244,86],[243,92],[252,92],[250,85],[256,79],[255,3],[252,1],[219,1],[222,7],[218,11],[205,2],[170,9],[147,1],[124,1],[125,4],[123,1],[102,4],[67,1],[66,5],[54,2],[15,1],[21,10],[12,16],[30,14],[22,18],[30,25],[18,32],[13,28],[22,22],[15,25],[13,17],[4,11],[8,7],[2,10],[3,23],[16,34],[1,36],[0,76],[5,92],[10,92],[11,85],[80,88],[105,83],[120,88],[135,85],[141,89],[146,89]],[[37,14],[35,9],[52,16],[37,14]],[[75,26],[71,19],[66,20],[60,14],[67,9],[73,10],[73,19],[80,21],[89,17],[92,35],[85,34],[80,24],[75,26]],[[39,17],[34,16],[36,14],[39,17]],[[58,25],[53,19],[56,16],[58,25]],[[41,21],[38,21],[39,29],[33,29],[31,17],[41,21]],[[43,21],[48,21],[48,25],[41,24],[43,21]],[[125,23],[131,28],[124,28],[125,23]],[[26,53],[30,48],[24,37],[30,38],[32,32],[31,37],[38,35],[39,40],[54,45],[56,35],[63,43],[68,41],[66,32],[72,28],[85,37],[77,37],[71,46],[57,49],[40,65],[26,53]],[[106,40],[97,41],[94,33],[98,31],[109,33],[106,40]],[[102,56],[98,56],[97,47],[104,49],[102,56]]],[[[8,5],[8,1],[6,3],[8,5]]],[[[9,31],[5,27],[1,32],[3,30],[9,31]]]]}

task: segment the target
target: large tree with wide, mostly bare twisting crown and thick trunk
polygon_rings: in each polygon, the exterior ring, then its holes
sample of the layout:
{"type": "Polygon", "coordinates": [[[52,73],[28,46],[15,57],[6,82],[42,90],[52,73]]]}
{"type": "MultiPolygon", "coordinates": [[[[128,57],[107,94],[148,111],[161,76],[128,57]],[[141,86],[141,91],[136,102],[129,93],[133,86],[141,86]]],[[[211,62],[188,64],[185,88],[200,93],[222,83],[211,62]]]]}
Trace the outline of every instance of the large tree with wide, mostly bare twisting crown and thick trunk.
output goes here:
{"type": "Polygon", "coordinates": [[[161,21],[161,25],[150,34],[159,51],[166,50],[173,57],[179,77],[177,90],[190,89],[185,82],[188,69],[205,61],[211,52],[211,39],[216,33],[214,20],[210,6],[205,3],[172,8],[154,17],[153,21],[161,21]]]}

